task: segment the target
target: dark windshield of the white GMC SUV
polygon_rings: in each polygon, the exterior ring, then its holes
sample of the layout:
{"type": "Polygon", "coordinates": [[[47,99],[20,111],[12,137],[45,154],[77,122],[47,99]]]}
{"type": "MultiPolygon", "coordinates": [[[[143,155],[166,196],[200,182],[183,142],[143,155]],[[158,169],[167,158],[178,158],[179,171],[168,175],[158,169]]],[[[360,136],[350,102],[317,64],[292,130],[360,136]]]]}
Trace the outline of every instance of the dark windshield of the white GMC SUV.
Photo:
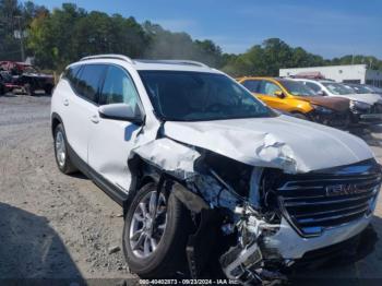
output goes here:
{"type": "Polygon", "coordinates": [[[203,121],[276,115],[223,74],[140,71],[140,75],[156,115],[164,120],[203,121]]]}

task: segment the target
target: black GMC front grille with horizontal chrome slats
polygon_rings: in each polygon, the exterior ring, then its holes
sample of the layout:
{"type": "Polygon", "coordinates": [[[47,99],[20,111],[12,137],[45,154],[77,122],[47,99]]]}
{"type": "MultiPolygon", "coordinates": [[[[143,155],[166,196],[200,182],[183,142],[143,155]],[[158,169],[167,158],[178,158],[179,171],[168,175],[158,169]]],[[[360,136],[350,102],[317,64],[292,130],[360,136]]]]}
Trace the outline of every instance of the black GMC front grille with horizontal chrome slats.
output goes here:
{"type": "Polygon", "coordinates": [[[284,216],[301,236],[370,215],[380,189],[374,174],[290,176],[277,188],[284,216]]]}

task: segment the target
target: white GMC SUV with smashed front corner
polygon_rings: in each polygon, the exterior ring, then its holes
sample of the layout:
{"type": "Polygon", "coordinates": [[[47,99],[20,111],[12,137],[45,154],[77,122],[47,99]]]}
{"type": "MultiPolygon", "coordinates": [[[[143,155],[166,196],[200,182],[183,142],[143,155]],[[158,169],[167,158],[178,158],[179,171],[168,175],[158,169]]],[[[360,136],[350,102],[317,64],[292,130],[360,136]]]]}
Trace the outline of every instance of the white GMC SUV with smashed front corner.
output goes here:
{"type": "Polygon", "coordinates": [[[355,248],[381,184],[359,138],[279,115],[193,61],[83,58],[53,92],[51,130],[59,169],[122,205],[141,277],[215,265],[242,284],[282,279],[355,248]]]}

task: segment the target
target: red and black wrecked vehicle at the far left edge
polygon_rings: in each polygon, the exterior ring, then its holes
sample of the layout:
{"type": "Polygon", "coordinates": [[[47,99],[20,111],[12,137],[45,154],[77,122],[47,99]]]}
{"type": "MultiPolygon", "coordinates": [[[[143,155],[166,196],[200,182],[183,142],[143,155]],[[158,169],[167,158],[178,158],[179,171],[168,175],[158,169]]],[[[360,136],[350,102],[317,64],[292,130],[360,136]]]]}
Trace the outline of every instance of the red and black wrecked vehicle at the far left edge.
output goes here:
{"type": "Polygon", "coordinates": [[[36,91],[51,94],[55,86],[53,76],[39,72],[25,62],[0,61],[0,93],[22,91],[35,95],[36,91]]]}

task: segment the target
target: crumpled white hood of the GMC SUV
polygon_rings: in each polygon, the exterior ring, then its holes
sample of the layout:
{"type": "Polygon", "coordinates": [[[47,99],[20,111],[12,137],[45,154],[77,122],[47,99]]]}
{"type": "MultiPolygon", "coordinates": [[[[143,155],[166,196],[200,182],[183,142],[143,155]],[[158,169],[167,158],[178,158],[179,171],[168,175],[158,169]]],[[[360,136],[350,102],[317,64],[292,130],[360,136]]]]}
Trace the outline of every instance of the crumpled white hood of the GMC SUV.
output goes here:
{"type": "Polygon", "coordinates": [[[167,121],[165,135],[252,166],[307,172],[373,157],[359,138],[322,124],[279,116],[202,122],[167,121]]]}

